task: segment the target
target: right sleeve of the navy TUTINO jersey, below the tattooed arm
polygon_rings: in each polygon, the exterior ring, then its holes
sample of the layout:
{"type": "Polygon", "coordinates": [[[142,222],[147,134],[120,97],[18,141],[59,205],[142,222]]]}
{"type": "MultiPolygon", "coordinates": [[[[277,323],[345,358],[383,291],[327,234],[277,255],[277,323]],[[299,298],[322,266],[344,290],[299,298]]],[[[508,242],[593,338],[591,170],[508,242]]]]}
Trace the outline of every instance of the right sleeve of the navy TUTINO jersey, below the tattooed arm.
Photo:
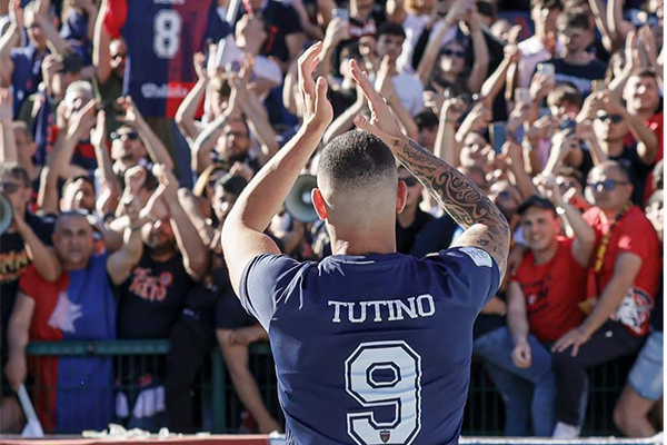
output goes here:
{"type": "Polygon", "coordinates": [[[498,265],[480,248],[455,247],[427,258],[432,258],[445,269],[445,290],[461,306],[474,307],[479,312],[500,287],[498,265]]]}

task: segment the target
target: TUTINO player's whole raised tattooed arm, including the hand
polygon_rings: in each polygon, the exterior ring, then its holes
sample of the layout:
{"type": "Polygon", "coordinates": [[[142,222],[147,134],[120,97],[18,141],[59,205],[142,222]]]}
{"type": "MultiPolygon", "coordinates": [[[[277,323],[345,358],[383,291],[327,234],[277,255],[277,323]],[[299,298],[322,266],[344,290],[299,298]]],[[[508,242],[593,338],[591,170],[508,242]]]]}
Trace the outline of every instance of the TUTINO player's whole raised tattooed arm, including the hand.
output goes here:
{"type": "Polygon", "coordinates": [[[486,250],[498,264],[502,277],[507,268],[510,231],[500,210],[464,174],[401,134],[389,107],[356,61],[351,61],[351,70],[371,111],[370,121],[358,115],[355,125],[382,139],[394,156],[466,229],[456,244],[486,250]]]}

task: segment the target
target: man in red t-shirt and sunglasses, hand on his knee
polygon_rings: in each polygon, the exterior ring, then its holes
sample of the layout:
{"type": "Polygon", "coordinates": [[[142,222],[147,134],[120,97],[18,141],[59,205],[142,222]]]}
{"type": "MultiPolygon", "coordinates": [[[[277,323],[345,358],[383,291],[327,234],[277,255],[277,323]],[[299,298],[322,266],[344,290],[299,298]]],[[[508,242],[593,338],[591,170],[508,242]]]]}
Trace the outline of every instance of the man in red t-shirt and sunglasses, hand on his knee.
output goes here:
{"type": "Polygon", "coordinates": [[[658,290],[660,243],[651,224],[631,206],[633,186],[616,161],[596,166],[588,176],[595,207],[584,218],[596,243],[588,274],[590,313],[556,342],[556,428],[554,436],[576,437],[586,369],[636,352],[648,333],[658,290]]]}

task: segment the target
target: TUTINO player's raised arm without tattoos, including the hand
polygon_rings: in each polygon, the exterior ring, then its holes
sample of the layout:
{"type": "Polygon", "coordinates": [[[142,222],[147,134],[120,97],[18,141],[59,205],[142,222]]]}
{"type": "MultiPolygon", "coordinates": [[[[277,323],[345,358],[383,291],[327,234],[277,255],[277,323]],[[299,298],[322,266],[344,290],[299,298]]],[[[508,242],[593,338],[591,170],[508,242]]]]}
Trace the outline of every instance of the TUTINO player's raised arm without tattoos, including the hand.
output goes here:
{"type": "Polygon", "coordinates": [[[243,268],[252,258],[280,253],[263,230],[280,210],[334,117],[327,100],[327,81],[320,77],[316,83],[312,79],[321,49],[321,42],[315,43],[299,58],[299,90],[306,105],[303,125],[252,178],[225,220],[222,250],[237,295],[241,295],[239,284],[243,268]]]}

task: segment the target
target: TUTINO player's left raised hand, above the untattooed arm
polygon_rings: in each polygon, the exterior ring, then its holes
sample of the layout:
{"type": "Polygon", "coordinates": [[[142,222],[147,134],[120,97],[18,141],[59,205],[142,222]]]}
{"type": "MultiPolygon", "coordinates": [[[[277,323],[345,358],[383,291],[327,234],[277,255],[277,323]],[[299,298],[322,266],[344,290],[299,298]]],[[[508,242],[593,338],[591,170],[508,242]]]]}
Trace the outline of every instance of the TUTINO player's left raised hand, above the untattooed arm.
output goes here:
{"type": "Polygon", "coordinates": [[[322,42],[317,42],[299,57],[299,91],[305,105],[303,121],[326,128],[334,119],[334,108],[327,99],[327,80],[323,77],[312,80],[312,72],[320,61],[322,42]]]}

